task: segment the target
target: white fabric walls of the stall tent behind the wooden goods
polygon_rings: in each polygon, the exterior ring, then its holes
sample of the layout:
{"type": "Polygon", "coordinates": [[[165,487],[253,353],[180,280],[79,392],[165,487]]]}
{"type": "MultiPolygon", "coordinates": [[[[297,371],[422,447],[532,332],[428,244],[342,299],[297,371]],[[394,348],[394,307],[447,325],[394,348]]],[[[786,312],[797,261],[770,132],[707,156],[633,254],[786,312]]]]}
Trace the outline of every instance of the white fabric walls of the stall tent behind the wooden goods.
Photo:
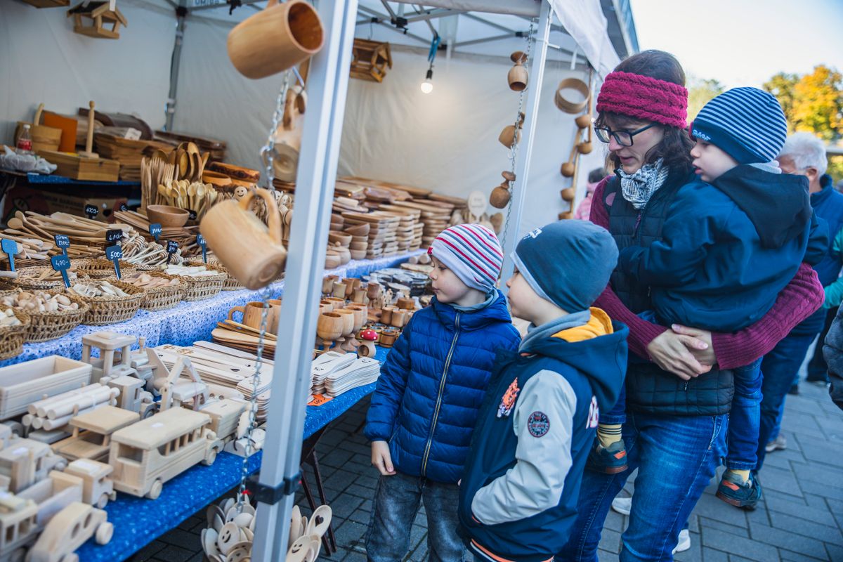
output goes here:
{"type": "MultiPolygon", "coordinates": [[[[31,116],[41,100],[48,109],[75,113],[94,99],[102,110],[134,112],[154,128],[164,125],[175,17],[158,0],[121,0],[120,6],[129,27],[122,29],[120,40],[110,41],[72,33],[63,9],[3,3],[0,49],[24,55],[0,57],[0,142],[11,142],[14,121],[31,116]]],[[[237,12],[237,19],[254,13],[237,12]]],[[[228,161],[260,168],[258,151],[266,142],[282,77],[253,81],[234,70],[226,52],[232,27],[227,16],[220,8],[187,19],[175,130],[220,138],[228,142],[228,161]]],[[[459,29],[467,28],[460,21],[459,29]]],[[[401,38],[386,32],[390,40],[392,35],[401,38]]],[[[359,35],[367,33],[368,26],[358,28],[359,35]]],[[[492,45],[488,51],[497,52],[492,45]]],[[[434,90],[425,95],[419,83],[427,70],[427,50],[394,45],[394,62],[384,83],[350,81],[340,174],[405,182],[448,195],[489,193],[509,168],[507,149],[497,136],[518,110],[518,94],[506,82],[511,63],[504,56],[457,51],[446,61],[440,55],[434,90]]],[[[572,146],[575,115],[557,110],[553,94],[561,78],[571,75],[586,78],[567,63],[547,63],[522,232],[566,210],[559,190],[570,179],[561,177],[559,167],[572,146]]],[[[588,170],[602,162],[602,148],[595,142],[594,152],[581,158],[579,192],[588,170]]]]}

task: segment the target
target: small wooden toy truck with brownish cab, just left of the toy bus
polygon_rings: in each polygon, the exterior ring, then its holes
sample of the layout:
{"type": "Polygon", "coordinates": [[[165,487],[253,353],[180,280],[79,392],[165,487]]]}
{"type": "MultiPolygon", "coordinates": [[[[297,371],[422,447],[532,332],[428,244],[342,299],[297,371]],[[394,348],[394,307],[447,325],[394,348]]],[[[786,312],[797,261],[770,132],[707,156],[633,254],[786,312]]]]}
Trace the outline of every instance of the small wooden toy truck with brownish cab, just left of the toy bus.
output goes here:
{"type": "MultiPolygon", "coordinates": [[[[132,379],[136,380],[137,379],[132,379]]],[[[68,461],[85,458],[108,463],[111,434],[139,420],[137,413],[115,406],[102,406],[70,420],[72,436],[53,443],[52,449],[68,461]]]]}

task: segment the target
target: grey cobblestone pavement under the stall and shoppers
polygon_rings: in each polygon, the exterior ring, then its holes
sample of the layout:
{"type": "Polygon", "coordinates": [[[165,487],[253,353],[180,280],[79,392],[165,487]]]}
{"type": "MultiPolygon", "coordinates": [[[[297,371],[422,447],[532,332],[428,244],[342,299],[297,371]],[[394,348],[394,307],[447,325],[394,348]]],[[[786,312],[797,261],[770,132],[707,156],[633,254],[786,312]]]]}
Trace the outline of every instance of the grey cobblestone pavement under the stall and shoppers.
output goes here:
{"type": "MultiPolygon", "coordinates": [[[[690,519],[691,549],[677,554],[680,562],[771,562],[831,560],[843,562],[843,412],[831,403],[825,388],[803,383],[800,396],[788,396],[782,423],[787,450],[767,456],[760,476],[765,499],[756,511],[741,511],[718,500],[716,482],[706,490],[690,519]]],[[[322,437],[317,451],[325,492],[334,511],[339,546],[323,557],[333,562],[363,562],[364,535],[377,472],[369,464],[369,447],[357,429],[368,400],[337,420],[322,437]]],[[[312,474],[308,477],[312,481],[312,474]]],[[[631,488],[631,486],[628,486],[631,488]]],[[[306,506],[303,497],[299,506],[306,506]]],[[[303,509],[309,514],[309,510],[303,509]]],[[[620,533],[627,517],[614,511],[607,518],[600,543],[600,562],[618,559],[620,533]]],[[[187,562],[202,559],[199,533],[203,514],[153,541],[132,559],[187,562]]],[[[406,560],[427,560],[427,518],[422,507],[412,529],[406,560]]]]}

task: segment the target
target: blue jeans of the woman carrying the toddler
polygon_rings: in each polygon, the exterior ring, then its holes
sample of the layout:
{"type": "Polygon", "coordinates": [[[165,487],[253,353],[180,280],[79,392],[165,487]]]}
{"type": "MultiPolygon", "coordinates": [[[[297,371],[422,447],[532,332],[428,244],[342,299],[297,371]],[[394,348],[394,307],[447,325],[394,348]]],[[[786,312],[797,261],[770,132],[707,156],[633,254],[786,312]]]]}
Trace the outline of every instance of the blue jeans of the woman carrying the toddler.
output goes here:
{"type": "Polygon", "coordinates": [[[629,468],[620,474],[584,471],[577,522],[556,559],[597,562],[609,506],[638,468],[630,525],[621,535],[620,561],[672,560],[679,531],[726,454],[727,426],[726,415],[631,412],[623,428],[629,468]]]}

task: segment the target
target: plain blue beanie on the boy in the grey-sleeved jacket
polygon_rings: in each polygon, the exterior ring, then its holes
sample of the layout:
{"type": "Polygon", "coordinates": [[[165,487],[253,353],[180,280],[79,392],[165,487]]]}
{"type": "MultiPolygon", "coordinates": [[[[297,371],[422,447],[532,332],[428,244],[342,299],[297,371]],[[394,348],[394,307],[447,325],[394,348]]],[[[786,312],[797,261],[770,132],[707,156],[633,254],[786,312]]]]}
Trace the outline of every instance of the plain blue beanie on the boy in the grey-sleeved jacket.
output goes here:
{"type": "Polygon", "coordinates": [[[615,239],[593,222],[551,222],[527,234],[513,263],[537,295],[568,313],[588,310],[618,263],[615,239]]]}

